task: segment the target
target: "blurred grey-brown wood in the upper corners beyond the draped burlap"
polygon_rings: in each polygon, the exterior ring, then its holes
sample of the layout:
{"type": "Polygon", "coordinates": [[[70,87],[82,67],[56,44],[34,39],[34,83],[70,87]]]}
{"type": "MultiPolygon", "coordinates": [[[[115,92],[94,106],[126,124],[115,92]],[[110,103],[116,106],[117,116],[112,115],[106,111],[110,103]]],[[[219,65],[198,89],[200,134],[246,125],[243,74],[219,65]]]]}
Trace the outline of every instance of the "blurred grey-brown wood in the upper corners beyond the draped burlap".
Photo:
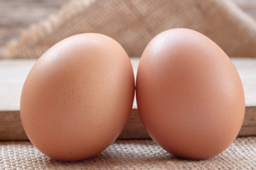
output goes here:
{"type": "MultiPolygon", "coordinates": [[[[58,13],[70,0],[0,0],[0,52],[32,23],[58,13]]],[[[231,0],[256,20],[256,0],[231,0]]],[[[0,58],[4,55],[0,53],[0,58]]]]}

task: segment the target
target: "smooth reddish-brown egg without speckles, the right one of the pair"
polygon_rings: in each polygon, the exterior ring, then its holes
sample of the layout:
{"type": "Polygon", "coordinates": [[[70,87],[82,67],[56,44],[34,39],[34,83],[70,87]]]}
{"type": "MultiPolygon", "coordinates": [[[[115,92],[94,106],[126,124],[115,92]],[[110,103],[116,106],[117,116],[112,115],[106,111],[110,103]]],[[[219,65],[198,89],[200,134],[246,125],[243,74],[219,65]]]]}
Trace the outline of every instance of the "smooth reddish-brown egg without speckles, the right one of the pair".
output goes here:
{"type": "Polygon", "coordinates": [[[242,83],[229,57],[185,28],[166,30],[146,46],[136,96],[147,132],[176,157],[220,154],[237,137],[245,114],[242,83]]]}

